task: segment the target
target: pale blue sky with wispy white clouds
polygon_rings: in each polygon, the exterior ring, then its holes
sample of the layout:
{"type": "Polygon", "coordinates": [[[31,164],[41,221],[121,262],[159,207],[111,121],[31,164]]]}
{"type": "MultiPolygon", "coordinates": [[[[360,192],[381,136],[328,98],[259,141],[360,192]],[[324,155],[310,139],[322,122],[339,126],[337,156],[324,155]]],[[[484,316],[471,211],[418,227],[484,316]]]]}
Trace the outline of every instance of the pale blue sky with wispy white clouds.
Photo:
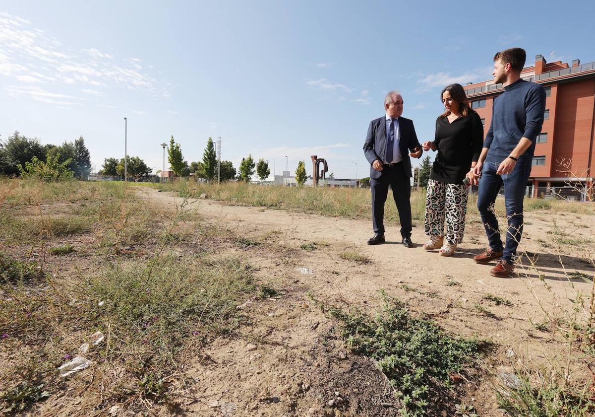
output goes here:
{"type": "Polygon", "coordinates": [[[127,117],[128,154],[155,170],[171,135],[189,162],[221,136],[236,167],[251,153],[277,174],[285,155],[292,173],[299,160],[309,171],[317,154],[336,178],[355,177],[355,163],[363,177],[387,91],[402,92],[425,141],[441,88],[489,79],[496,51],[594,61],[591,2],[548,4],[0,2],[0,139],[82,135],[101,169],[123,157],[127,117]]]}

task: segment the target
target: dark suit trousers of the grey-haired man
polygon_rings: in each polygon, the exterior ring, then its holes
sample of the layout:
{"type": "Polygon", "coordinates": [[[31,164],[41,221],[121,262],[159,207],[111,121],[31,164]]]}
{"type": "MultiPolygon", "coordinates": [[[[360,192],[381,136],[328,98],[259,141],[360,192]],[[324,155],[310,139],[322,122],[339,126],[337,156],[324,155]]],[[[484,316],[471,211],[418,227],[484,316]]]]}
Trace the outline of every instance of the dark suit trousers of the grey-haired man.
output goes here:
{"type": "Polygon", "coordinates": [[[405,175],[403,163],[394,167],[384,167],[380,178],[370,179],[372,189],[372,226],[375,233],[384,233],[384,203],[389,195],[389,185],[393,190],[394,203],[399,211],[401,236],[411,236],[411,180],[405,175]]]}

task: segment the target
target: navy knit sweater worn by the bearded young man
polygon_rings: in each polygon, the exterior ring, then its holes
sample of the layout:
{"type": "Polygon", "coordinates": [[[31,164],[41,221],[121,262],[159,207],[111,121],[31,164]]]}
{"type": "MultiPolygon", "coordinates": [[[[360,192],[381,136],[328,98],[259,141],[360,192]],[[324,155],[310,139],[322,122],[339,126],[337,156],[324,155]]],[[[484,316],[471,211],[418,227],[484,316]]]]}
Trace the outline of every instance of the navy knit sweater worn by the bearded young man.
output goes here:
{"type": "Polygon", "coordinates": [[[490,130],[483,145],[490,148],[486,161],[502,162],[521,138],[527,138],[533,144],[519,157],[519,161],[531,163],[545,109],[546,91],[542,86],[523,79],[507,85],[504,92],[494,99],[490,130]]]}

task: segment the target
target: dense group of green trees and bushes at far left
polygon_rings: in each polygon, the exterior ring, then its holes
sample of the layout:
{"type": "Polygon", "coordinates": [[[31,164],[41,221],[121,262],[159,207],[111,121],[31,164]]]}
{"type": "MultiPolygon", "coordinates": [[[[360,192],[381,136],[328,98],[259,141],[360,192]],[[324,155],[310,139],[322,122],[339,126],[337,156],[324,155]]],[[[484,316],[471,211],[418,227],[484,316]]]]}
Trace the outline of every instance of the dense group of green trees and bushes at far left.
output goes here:
{"type": "Polygon", "coordinates": [[[38,139],[17,131],[7,141],[0,141],[0,173],[4,175],[20,176],[27,163],[45,164],[48,160],[52,165],[63,165],[78,179],[87,179],[91,172],[91,156],[83,136],[61,145],[42,145],[38,139]]]}

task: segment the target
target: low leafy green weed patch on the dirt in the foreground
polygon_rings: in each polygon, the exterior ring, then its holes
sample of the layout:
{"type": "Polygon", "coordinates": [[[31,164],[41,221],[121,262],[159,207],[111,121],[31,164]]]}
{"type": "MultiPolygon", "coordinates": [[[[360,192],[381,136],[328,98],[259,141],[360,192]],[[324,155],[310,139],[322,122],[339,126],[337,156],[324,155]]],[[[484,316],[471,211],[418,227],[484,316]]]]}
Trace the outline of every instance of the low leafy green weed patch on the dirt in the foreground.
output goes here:
{"type": "Polygon", "coordinates": [[[370,357],[390,381],[403,416],[425,416],[453,403],[449,375],[462,372],[480,351],[477,339],[457,338],[435,322],[412,317],[402,303],[384,295],[374,317],[315,302],[342,324],[342,337],[357,354],[370,357]]]}

